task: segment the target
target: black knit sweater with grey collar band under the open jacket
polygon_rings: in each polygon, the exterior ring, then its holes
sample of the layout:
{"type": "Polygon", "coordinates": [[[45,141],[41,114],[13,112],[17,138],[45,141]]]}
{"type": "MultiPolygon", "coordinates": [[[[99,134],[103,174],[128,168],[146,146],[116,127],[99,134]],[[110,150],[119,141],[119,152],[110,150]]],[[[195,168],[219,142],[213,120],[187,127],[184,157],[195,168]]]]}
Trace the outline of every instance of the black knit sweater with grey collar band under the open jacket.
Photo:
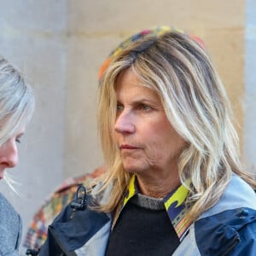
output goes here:
{"type": "Polygon", "coordinates": [[[109,236],[106,256],[167,256],[178,245],[164,201],[138,194],[120,213],[109,236]]]}

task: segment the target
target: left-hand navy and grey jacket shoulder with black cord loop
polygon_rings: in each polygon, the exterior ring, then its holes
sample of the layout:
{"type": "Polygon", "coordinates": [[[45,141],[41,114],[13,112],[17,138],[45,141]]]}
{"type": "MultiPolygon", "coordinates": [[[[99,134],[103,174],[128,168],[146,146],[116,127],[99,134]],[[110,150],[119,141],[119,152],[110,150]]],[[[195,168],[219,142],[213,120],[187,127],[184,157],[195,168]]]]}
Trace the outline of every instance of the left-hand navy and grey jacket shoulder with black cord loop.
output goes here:
{"type": "MultiPolygon", "coordinates": [[[[90,194],[86,195],[84,207],[79,207],[78,199],[71,201],[49,225],[48,238],[39,255],[53,255],[57,243],[69,252],[78,249],[87,252],[92,247],[93,252],[102,250],[101,248],[105,247],[108,241],[111,218],[105,212],[93,210],[91,208],[93,201],[94,198],[90,194]],[[75,241],[70,239],[74,236],[76,237],[75,241]]],[[[86,255],[95,254],[88,253],[86,255]]]]}

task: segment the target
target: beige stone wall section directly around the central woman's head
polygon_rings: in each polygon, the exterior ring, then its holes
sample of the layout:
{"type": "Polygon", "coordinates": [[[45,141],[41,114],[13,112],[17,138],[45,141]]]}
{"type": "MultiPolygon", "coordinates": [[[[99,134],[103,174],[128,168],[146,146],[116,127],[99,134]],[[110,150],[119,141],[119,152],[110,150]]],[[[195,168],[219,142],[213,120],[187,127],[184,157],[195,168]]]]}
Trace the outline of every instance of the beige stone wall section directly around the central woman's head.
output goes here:
{"type": "MultiPolygon", "coordinates": [[[[68,2],[66,176],[101,165],[99,145],[91,143],[97,138],[97,72],[111,49],[147,27],[180,27],[204,39],[228,90],[238,124],[243,124],[244,1],[233,1],[232,5],[230,1],[148,3],[147,0],[68,2]]],[[[241,128],[238,125],[237,128],[242,140],[241,128]]]]}

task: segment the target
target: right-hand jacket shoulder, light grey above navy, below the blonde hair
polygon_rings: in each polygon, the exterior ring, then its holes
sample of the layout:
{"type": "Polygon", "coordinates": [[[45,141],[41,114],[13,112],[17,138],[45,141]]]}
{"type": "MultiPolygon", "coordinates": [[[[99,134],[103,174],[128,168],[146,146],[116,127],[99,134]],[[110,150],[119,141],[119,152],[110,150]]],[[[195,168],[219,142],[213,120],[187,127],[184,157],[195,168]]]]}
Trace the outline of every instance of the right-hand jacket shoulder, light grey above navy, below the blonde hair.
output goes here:
{"type": "MultiPolygon", "coordinates": [[[[256,195],[240,177],[233,176],[218,203],[195,221],[195,239],[202,254],[256,251],[256,195]],[[207,241],[206,241],[207,237],[207,241]]],[[[224,254],[226,255],[226,254],[224,254]]]]}

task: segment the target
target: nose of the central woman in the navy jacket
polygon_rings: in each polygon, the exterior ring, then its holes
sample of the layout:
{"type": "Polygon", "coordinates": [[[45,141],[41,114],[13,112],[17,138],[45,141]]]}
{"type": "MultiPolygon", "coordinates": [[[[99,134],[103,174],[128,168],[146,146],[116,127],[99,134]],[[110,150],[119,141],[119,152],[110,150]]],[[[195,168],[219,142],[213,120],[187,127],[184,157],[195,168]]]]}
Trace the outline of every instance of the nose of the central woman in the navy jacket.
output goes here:
{"type": "Polygon", "coordinates": [[[119,113],[114,124],[114,131],[118,133],[133,133],[135,131],[135,120],[133,114],[123,110],[119,113]]]}

